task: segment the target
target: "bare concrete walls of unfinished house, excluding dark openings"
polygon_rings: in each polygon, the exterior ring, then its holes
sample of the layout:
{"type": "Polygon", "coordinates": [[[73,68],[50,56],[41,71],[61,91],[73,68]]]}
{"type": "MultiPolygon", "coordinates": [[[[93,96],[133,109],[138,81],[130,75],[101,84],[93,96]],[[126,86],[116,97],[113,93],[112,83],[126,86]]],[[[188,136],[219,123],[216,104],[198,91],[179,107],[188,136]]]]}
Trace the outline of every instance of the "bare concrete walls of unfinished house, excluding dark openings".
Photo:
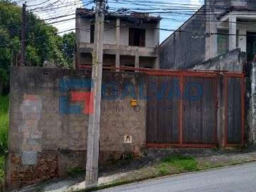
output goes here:
{"type": "MultiPolygon", "coordinates": [[[[94,25],[95,12],[85,8],[76,9],[76,66],[90,65],[90,54],[93,51],[93,43],[90,42],[92,25],[94,25]]],[[[138,56],[152,57],[148,65],[151,68],[157,65],[155,61],[158,57],[156,47],[159,46],[159,17],[149,15],[122,15],[106,13],[106,22],[104,24],[103,34],[103,66],[122,66],[120,56],[138,56]],[[138,25],[138,21],[139,25],[138,25]],[[116,26],[116,27],[113,27],[116,26]],[[141,28],[145,30],[145,46],[129,45],[129,29],[141,28]],[[108,64],[106,60],[114,57],[114,62],[108,64]]],[[[139,62],[140,63],[140,62],[139,62]]],[[[128,66],[136,66],[135,62],[130,62],[128,66]]],[[[142,63],[143,66],[143,63],[142,63]]]]}

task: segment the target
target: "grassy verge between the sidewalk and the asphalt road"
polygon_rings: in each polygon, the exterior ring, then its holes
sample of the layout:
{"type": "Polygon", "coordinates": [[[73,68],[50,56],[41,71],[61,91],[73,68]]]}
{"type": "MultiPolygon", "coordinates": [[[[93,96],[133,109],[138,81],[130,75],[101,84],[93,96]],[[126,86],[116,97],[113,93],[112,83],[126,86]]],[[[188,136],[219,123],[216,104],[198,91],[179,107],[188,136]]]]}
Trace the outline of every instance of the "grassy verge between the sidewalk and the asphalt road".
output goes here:
{"type": "Polygon", "coordinates": [[[201,159],[193,156],[184,156],[181,154],[174,154],[167,157],[162,158],[156,165],[154,166],[146,166],[141,168],[140,170],[136,170],[134,173],[124,176],[118,180],[114,180],[110,183],[102,184],[94,188],[83,189],[83,190],[74,190],[73,192],[89,192],[95,190],[102,190],[105,188],[110,188],[114,186],[120,186],[124,184],[129,184],[132,182],[140,182],[148,179],[157,178],[160,176],[168,176],[174,175],[184,172],[194,172],[200,170],[207,170],[211,168],[220,168],[224,166],[234,166],[238,164],[244,164],[248,162],[255,162],[255,158],[247,158],[247,159],[232,159],[225,158],[212,161],[210,159],[201,159]]]}

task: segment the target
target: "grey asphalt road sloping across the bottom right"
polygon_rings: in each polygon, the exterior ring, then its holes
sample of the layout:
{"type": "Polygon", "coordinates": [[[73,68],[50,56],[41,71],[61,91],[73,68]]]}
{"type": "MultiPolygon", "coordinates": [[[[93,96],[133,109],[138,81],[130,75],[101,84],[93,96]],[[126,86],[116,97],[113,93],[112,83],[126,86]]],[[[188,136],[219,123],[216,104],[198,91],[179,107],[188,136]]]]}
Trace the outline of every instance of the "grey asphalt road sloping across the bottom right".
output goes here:
{"type": "Polygon", "coordinates": [[[148,180],[101,192],[256,192],[256,163],[148,180]]]}

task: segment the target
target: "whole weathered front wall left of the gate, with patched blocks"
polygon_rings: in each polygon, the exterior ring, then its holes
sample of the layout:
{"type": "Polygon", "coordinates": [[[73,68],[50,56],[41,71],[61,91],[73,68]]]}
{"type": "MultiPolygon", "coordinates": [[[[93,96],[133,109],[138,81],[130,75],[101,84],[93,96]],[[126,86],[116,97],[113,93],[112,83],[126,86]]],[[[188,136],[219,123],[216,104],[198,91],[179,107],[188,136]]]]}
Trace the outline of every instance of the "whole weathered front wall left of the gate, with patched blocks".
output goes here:
{"type": "MultiPolygon", "coordinates": [[[[12,68],[6,171],[9,189],[65,176],[74,167],[85,168],[89,115],[84,114],[86,102],[70,99],[73,92],[89,92],[88,79],[87,71],[12,68]]],[[[102,98],[101,164],[120,158],[122,153],[139,156],[143,152],[146,105],[138,99],[134,110],[130,100],[132,90],[138,96],[144,81],[142,74],[103,73],[103,86],[110,84],[102,98]],[[111,89],[113,84],[115,89],[111,89]],[[131,142],[124,142],[126,136],[131,136],[131,142]]]]}

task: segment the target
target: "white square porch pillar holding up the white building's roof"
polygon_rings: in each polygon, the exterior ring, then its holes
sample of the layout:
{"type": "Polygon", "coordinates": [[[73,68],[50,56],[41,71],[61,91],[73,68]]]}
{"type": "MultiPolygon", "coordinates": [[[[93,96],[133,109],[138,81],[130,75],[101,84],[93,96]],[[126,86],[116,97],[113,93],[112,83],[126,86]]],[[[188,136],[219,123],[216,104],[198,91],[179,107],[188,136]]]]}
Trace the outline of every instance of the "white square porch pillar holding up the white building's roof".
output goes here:
{"type": "Polygon", "coordinates": [[[236,49],[236,16],[229,18],[229,51],[236,49]]]}

